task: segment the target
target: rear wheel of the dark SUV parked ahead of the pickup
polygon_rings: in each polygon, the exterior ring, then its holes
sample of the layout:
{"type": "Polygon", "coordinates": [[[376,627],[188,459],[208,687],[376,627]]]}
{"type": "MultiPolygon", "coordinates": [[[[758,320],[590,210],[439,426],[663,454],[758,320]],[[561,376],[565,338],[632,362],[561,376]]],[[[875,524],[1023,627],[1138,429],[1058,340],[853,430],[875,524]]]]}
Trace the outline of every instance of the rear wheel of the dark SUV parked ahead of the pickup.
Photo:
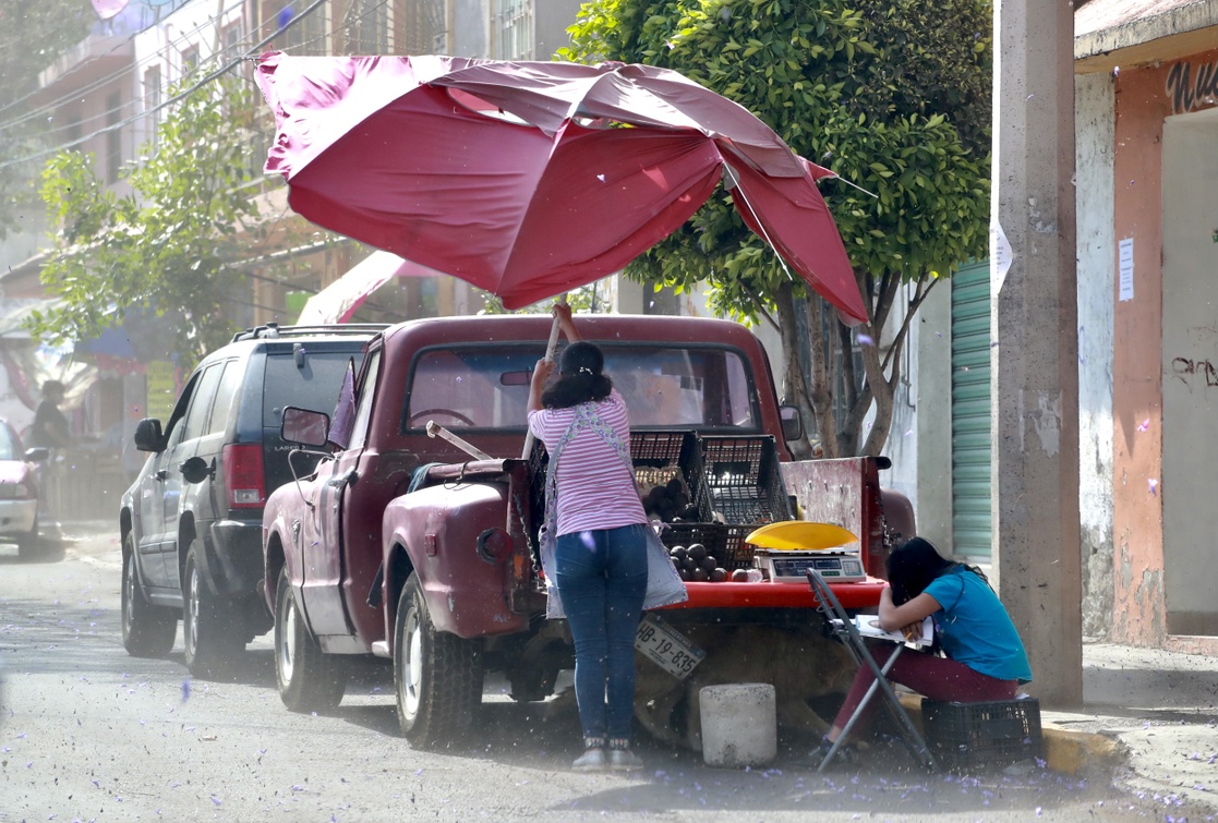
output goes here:
{"type": "Polygon", "coordinates": [[[206,678],[231,671],[245,650],[245,627],[239,625],[244,612],[208,590],[199,567],[202,552],[202,542],[197,537],[191,539],[181,575],[181,636],[186,668],[195,677],[206,678]]]}

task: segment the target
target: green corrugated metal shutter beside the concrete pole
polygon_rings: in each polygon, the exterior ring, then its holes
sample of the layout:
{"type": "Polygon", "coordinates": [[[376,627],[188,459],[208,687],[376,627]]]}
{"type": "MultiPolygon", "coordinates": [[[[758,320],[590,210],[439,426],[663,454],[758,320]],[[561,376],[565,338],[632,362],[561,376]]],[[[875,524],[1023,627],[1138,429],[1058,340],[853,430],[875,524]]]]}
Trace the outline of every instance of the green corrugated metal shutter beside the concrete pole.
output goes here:
{"type": "Polygon", "coordinates": [[[989,261],[951,278],[952,553],[990,556],[989,261]]]}

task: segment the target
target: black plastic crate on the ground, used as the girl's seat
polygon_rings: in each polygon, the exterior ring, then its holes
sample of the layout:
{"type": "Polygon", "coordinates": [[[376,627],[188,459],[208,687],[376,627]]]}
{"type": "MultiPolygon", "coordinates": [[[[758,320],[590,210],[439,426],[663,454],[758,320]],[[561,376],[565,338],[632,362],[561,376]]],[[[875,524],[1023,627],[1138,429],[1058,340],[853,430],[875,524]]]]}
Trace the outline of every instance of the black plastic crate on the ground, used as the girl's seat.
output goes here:
{"type": "Polygon", "coordinates": [[[926,743],[949,769],[1004,767],[1040,757],[1040,701],[1035,698],[989,702],[922,699],[926,743]]]}

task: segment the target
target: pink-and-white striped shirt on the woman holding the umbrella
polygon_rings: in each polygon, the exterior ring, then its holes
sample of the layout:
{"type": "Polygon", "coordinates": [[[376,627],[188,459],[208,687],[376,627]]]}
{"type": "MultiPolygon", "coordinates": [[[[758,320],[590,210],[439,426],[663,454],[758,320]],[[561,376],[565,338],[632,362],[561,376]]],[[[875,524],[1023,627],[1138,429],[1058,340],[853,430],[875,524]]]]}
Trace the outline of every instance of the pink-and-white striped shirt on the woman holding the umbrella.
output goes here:
{"type": "MultiPolygon", "coordinates": [[[[596,407],[600,419],[628,448],[630,419],[618,390],[596,407]]],[[[529,430],[547,449],[554,449],[574,418],[575,409],[530,412],[529,430]]],[[[592,429],[583,429],[566,444],[557,472],[559,534],[647,522],[633,470],[592,429]]]]}

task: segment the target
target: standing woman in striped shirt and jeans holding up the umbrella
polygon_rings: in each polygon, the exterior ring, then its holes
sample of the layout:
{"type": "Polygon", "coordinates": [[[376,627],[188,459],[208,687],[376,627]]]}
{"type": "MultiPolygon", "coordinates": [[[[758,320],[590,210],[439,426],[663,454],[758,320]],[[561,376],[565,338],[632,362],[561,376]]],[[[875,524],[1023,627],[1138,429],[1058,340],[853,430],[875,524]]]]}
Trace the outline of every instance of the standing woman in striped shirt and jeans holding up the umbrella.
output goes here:
{"type": "MultiPolygon", "coordinates": [[[[570,345],[557,380],[538,360],[529,430],[558,463],[555,583],[575,642],[575,696],[585,752],[581,772],[642,767],[630,750],[635,711],[635,633],[647,590],[649,528],[633,469],[626,404],[604,375],[604,355],[582,342],[571,309],[554,307],[570,345]],[[616,438],[618,446],[613,441],[616,438]]],[[[553,517],[551,522],[554,522],[553,517]]]]}

